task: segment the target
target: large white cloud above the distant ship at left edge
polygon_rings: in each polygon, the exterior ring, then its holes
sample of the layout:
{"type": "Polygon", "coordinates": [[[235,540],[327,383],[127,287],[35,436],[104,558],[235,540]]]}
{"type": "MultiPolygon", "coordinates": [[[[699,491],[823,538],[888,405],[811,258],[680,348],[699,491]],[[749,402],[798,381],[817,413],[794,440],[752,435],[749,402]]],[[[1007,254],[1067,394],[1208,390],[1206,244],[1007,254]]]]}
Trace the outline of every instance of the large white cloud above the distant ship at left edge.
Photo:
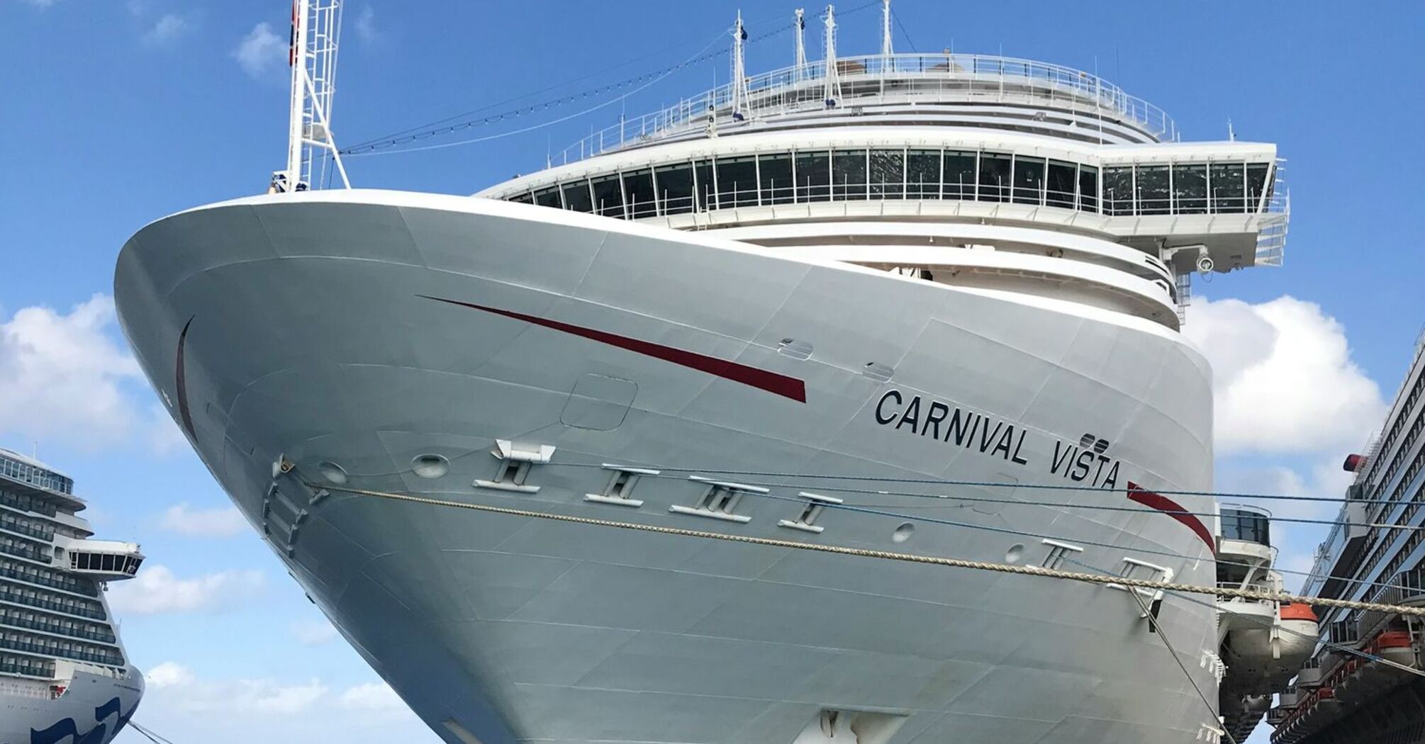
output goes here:
{"type": "Polygon", "coordinates": [[[0,435],[90,450],[182,440],[164,409],[138,402],[147,383],[114,319],[113,298],[94,295],[68,314],[30,306],[0,322],[0,435]]]}

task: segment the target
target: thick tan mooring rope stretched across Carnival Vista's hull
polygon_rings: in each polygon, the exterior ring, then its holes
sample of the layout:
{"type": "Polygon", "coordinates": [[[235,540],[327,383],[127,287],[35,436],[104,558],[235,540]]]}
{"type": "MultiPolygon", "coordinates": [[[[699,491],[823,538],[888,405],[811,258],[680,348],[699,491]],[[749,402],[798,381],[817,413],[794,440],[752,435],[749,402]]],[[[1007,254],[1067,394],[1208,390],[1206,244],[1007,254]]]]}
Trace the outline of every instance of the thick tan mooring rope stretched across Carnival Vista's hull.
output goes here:
{"type": "Polygon", "coordinates": [[[1064,572],[1059,569],[1045,569],[1040,566],[1017,566],[1010,563],[992,563],[983,560],[965,560],[952,559],[945,556],[923,556],[918,553],[898,553],[892,550],[872,550],[865,547],[846,547],[838,544],[819,544],[819,543],[802,543],[795,540],[781,540],[774,537],[757,537],[751,534],[728,534],[721,532],[707,532],[707,530],[690,530],[683,527],[664,527],[658,525],[640,525],[636,522],[617,522],[611,519],[594,519],[581,517],[573,515],[554,515],[549,512],[537,512],[530,509],[512,509],[507,506],[489,506],[467,502],[453,502],[446,499],[428,499],[422,496],[409,496],[405,493],[389,493],[380,490],[368,489],[352,489],[345,486],[333,485],[318,485],[306,483],[308,487],[314,490],[325,489],[328,492],[342,492],[356,496],[372,496],[379,499],[389,499],[396,502],[408,503],[425,503],[430,506],[446,506],[452,509],[469,509],[475,512],[486,512],[506,516],[519,516],[530,519],[547,519],[553,522],[567,522],[574,525],[591,525],[601,527],[617,527],[634,532],[650,532],[657,534],[677,534],[683,537],[703,537],[708,540],[725,540],[734,543],[745,544],[762,544],[768,547],[788,547],[794,550],[811,550],[817,553],[834,553],[842,556],[858,556],[858,557],[875,557],[882,560],[899,560],[905,563],[921,563],[929,566],[945,566],[953,569],[973,569],[986,570],[996,573],[1012,573],[1020,576],[1042,576],[1047,579],[1066,579],[1072,582],[1083,582],[1089,584],[1116,584],[1116,586],[1130,586],[1140,589],[1154,589],[1164,591],[1184,591],[1190,594],[1213,594],[1218,597],[1238,597],[1248,600],[1263,600],[1263,601],[1281,601],[1281,603],[1304,603],[1317,604],[1322,607],[1344,607],[1348,610],[1375,610],[1384,613],[1409,614],[1415,617],[1425,617],[1425,607],[1406,607],[1402,604],[1384,604],[1377,601],[1357,601],[1344,600],[1334,597],[1307,597],[1300,594],[1290,594],[1287,591],[1264,591],[1264,590],[1250,590],[1240,587],[1216,587],[1216,586],[1201,586],[1201,584],[1184,584],[1178,582],[1154,582],[1149,579],[1131,579],[1126,576],[1099,576],[1093,573],[1080,572],[1064,572]]]}

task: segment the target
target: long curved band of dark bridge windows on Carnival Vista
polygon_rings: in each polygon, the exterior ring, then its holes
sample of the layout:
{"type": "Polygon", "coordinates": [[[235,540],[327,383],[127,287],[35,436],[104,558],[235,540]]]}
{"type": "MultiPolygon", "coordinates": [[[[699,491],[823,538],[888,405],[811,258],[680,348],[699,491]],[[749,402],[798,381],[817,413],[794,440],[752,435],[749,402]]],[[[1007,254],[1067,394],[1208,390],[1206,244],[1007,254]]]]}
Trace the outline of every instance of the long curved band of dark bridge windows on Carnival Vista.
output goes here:
{"type": "Polygon", "coordinates": [[[1255,212],[1265,162],[1099,168],[1010,153],[856,148],[728,155],[580,177],[506,197],[604,217],[864,200],[959,200],[1106,214],[1255,212]],[[1112,184],[1109,182],[1112,175],[1112,184]],[[1112,197],[1112,204],[1109,202],[1112,197]]]}

